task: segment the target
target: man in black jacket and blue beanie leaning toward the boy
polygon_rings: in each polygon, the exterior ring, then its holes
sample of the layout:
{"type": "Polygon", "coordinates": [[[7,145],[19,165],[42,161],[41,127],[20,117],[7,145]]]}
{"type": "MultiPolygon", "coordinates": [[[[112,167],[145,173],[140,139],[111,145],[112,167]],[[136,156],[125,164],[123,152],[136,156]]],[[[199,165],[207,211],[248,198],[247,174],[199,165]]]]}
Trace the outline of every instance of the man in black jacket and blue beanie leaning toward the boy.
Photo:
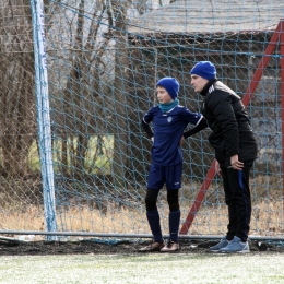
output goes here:
{"type": "MultiPolygon", "coordinates": [[[[215,150],[215,169],[222,175],[228,206],[227,234],[210,251],[249,252],[249,174],[258,152],[249,116],[241,98],[216,79],[216,69],[212,62],[198,62],[190,74],[194,92],[204,97],[201,113],[212,130],[209,142],[215,150]]],[[[184,135],[187,138],[204,128],[204,123],[199,123],[184,135]]]]}

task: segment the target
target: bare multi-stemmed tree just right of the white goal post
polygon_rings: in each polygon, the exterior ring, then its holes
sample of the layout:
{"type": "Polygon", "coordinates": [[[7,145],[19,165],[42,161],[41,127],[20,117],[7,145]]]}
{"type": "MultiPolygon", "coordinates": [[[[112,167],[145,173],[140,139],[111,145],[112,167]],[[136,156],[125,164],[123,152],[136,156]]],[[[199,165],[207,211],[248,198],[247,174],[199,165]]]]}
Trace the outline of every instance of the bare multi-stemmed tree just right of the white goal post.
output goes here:
{"type": "MultiPolygon", "coordinates": [[[[56,122],[54,134],[61,139],[61,155],[58,157],[60,171],[79,179],[94,170],[92,166],[95,165],[96,155],[90,164],[91,139],[96,137],[102,142],[100,138],[105,134],[102,97],[108,86],[104,78],[107,72],[104,57],[113,37],[102,35],[100,25],[106,21],[109,8],[104,1],[99,3],[91,13],[86,9],[87,1],[78,1],[76,13],[66,15],[64,20],[59,21],[59,26],[50,27],[48,34],[54,43],[59,43],[56,55],[48,51],[49,61],[57,58],[50,64],[49,76],[58,82],[57,72],[60,70],[66,78],[66,83],[61,85],[64,90],[62,96],[58,87],[51,86],[52,119],[56,122]],[[58,27],[61,29],[58,31],[58,27]],[[61,34],[70,42],[60,42],[61,34]],[[64,47],[63,51],[60,51],[61,46],[64,47]]],[[[64,10],[58,12],[62,15],[64,10]]],[[[97,147],[100,149],[99,143],[97,147]]],[[[95,153],[99,152],[95,150],[95,153]]]]}

